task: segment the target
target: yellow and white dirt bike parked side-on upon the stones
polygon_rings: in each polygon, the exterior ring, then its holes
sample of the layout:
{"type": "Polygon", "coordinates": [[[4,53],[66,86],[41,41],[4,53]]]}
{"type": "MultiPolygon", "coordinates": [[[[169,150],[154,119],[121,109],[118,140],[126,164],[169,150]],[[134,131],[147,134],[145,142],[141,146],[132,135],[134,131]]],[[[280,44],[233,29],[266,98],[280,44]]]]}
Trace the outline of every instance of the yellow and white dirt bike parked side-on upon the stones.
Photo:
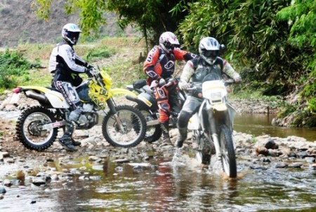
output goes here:
{"type": "MultiPolygon", "coordinates": [[[[102,132],[112,146],[131,147],[143,140],[146,121],[143,114],[133,106],[116,105],[114,94],[136,95],[133,92],[111,88],[112,80],[105,71],[91,69],[91,78],[81,83],[76,90],[83,102],[83,113],[75,123],[75,129],[90,129],[98,124],[99,111],[105,117],[102,132]]],[[[16,100],[21,92],[26,97],[39,101],[40,106],[25,108],[16,123],[19,141],[31,150],[49,148],[58,135],[58,129],[65,129],[70,113],[62,94],[52,87],[18,86],[13,90],[16,100]]]]}

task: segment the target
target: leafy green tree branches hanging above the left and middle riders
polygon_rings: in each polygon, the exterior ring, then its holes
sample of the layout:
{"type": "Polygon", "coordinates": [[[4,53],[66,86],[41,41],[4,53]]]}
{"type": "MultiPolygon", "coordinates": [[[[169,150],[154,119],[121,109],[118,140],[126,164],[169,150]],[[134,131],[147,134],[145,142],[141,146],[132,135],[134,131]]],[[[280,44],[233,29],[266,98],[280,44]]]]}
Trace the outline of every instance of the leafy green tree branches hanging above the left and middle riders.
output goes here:
{"type": "MultiPolygon", "coordinates": [[[[194,0],[181,0],[186,5],[194,0]]],[[[51,13],[51,0],[34,0],[33,8],[40,18],[49,20],[51,13]]],[[[108,11],[119,15],[119,26],[124,28],[129,24],[136,24],[143,31],[145,38],[147,32],[151,35],[150,43],[157,43],[163,31],[176,31],[178,23],[187,11],[170,13],[170,10],[179,4],[178,0],[67,0],[65,8],[68,14],[79,10],[79,25],[84,36],[93,34],[98,36],[100,26],[106,23],[104,14],[108,11]]]]}

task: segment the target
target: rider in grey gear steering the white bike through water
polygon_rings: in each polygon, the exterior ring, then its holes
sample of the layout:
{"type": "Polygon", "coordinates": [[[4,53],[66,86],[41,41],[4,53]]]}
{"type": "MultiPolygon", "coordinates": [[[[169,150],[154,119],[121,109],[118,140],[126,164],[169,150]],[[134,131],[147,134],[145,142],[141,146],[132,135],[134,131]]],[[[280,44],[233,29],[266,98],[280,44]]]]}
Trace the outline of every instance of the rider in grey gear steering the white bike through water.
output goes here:
{"type": "MultiPolygon", "coordinates": [[[[180,76],[179,87],[181,90],[186,90],[190,87],[190,82],[202,82],[204,77],[209,73],[214,73],[218,78],[223,78],[223,73],[235,80],[235,83],[240,83],[242,78],[239,73],[230,66],[230,64],[221,57],[220,44],[215,38],[202,38],[199,42],[199,56],[192,59],[185,64],[183,73],[180,76]]],[[[193,97],[188,94],[183,108],[180,111],[177,127],[178,139],[176,140],[176,147],[181,148],[183,142],[187,139],[187,124],[193,114],[197,112],[199,106],[202,104],[202,99],[193,97]]]]}

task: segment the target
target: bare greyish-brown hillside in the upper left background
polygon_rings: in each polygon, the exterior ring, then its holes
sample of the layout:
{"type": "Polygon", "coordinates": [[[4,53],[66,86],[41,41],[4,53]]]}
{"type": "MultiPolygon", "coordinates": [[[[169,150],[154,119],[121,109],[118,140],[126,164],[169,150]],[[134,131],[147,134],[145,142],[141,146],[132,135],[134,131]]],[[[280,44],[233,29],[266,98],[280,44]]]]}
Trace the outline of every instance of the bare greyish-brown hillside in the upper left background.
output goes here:
{"type": "MultiPolygon", "coordinates": [[[[78,23],[78,15],[65,15],[64,1],[61,0],[52,2],[48,22],[38,20],[31,8],[32,1],[0,1],[0,48],[15,47],[19,43],[56,43],[64,24],[78,23]]],[[[101,35],[112,37],[121,34],[116,16],[107,14],[105,18],[107,25],[100,29],[101,35]]]]}

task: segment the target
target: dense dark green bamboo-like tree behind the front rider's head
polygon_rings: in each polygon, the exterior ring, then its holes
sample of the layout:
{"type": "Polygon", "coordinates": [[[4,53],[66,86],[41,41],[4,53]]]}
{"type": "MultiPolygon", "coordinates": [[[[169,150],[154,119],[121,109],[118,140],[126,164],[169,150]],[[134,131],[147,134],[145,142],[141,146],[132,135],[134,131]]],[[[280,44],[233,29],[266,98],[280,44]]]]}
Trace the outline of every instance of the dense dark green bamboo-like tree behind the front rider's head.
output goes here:
{"type": "Polygon", "coordinates": [[[185,9],[180,23],[185,45],[213,36],[227,45],[226,57],[239,61],[242,76],[251,86],[268,87],[266,94],[284,94],[303,69],[297,48],[288,41],[289,26],[276,14],[291,0],[200,0],[185,9]]]}

